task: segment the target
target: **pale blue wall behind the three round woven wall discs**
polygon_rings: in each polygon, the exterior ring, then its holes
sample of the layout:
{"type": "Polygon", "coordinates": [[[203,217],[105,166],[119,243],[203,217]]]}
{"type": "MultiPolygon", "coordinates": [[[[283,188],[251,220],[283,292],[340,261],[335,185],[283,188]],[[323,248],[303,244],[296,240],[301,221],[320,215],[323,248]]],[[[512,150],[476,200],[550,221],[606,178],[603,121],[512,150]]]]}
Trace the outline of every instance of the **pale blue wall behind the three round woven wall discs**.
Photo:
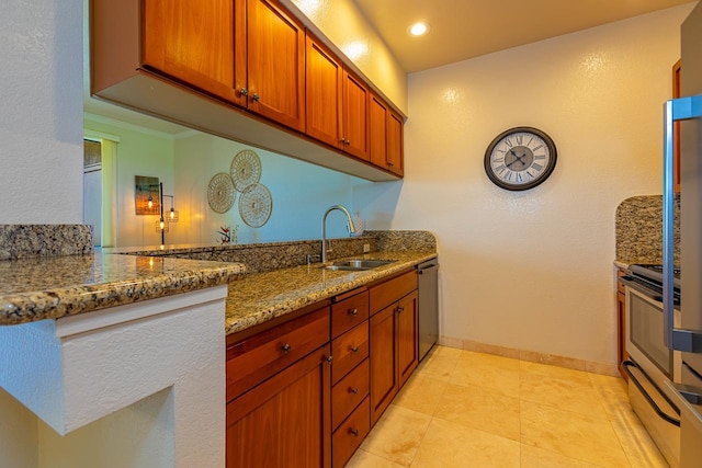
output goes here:
{"type": "MultiPolygon", "coordinates": [[[[359,179],[297,161],[270,151],[194,134],[176,141],[176,193],[181,220],[167,236],[173,243],[214,243],[222,226],[238,226],[238,242],[319,239],[326,208],[341,204],[352,209],[352,184],[359,179]],[[261,160],[261,180],[271,192],[273,209],[268,222],[249,227],[239,214],[240,193],[234,206],[217,214],[207,203],[207,185],[217,172],[229,173],[231,160],[244,149],[261,160]]],[[[348,237],[346,218],[329,216],[328,236],[348,237]]]]}

